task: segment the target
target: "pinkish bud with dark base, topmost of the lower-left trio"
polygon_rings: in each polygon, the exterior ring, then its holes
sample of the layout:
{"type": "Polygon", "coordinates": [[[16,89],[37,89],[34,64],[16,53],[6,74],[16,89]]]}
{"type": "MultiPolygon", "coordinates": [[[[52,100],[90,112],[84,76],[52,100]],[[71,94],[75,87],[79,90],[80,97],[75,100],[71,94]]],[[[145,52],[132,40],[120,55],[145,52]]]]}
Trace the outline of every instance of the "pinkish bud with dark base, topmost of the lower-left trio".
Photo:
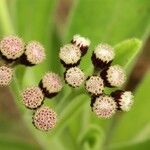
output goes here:
{"type": "Polygon", "coordinates": [[[42,78],[39,86],[46,97],[52,98],[61,91],[63,85],[61,78],[56,73],[48,72],[42,78]]]}

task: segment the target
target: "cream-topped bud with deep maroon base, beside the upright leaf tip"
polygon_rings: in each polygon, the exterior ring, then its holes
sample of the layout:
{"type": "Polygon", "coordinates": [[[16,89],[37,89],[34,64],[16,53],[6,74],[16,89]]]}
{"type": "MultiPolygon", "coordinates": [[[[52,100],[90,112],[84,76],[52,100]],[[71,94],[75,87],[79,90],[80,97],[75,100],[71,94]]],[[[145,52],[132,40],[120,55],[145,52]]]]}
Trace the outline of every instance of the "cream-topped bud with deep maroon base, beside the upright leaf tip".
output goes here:
{"type": "Polygon", "coordinates": [[[108,67],[115,57],[114,49],[108,44],[99,44],[92,55],[92,62],[95,67],[108,67]]]}

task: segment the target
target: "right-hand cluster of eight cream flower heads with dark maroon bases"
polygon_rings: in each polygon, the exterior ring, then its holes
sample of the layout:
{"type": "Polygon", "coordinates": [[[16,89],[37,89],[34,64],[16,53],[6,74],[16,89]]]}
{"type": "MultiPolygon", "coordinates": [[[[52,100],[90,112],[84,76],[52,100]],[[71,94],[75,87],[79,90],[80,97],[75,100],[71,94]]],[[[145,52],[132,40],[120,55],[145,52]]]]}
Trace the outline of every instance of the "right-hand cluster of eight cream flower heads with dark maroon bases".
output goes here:
{"type": "Polygon", "coordinates": [[[115,58],[113,47],[105,43],[96,46],[91,57],[96,70],[93,75],[86,78],[78,67],[89,46],[89,39],[75,35],[71,43],[60,49],[59,58],[66,68],[66,83],[72,87],[85,84],[85,89],[91,95],[92,111],[100,118],[110,118],[117,110],[130,110],[133,103],[130,91],[117,90],[110,95],[105,94],[105,87],[120,88],[126,81],[124,69],[120,65],[112,65],[115,58]]]}

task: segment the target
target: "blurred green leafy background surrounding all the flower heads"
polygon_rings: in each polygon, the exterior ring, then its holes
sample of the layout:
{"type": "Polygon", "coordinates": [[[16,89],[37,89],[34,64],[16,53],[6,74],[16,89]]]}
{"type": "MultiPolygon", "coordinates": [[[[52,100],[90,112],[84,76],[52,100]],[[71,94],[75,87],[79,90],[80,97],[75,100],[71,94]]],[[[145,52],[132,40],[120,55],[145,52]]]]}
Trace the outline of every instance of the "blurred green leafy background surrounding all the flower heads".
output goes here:
{"type": "Polygon", "coordinates": [[[150,149],[150,1],[149,0],[0,0],[0,38],[16,34],[26,42],[40,41],[46,48],[44,63],[17,66],[10,88],[0,88],[0,150],[149,150],[150,149]],[[124,87],[135,94],[128,113],[100,120],[90,111],[90,98],[68,86],[54,100],[60,121],[54,131],[42,133],[32,126],[20,92],[37,85],[42,75],[63,75],[59,48],[74,34],[91,40],[81,68],[90,75],[93,48],[100,42],[114,46],[114,63],[128,74],[124,87]]]}

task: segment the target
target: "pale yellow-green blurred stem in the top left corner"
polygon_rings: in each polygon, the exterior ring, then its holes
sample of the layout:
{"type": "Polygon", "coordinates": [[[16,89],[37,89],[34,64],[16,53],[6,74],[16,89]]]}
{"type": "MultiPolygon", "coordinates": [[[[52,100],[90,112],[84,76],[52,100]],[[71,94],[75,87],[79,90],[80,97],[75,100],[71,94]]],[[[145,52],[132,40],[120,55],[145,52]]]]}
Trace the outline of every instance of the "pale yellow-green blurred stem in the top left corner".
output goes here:
{"type": "Polygon", "coordinates": [[[13,34],[14,29],[11,24],[10,15],[8,13],[6,0],[0,0],[0,24],[3,34],[13,34]]]}

